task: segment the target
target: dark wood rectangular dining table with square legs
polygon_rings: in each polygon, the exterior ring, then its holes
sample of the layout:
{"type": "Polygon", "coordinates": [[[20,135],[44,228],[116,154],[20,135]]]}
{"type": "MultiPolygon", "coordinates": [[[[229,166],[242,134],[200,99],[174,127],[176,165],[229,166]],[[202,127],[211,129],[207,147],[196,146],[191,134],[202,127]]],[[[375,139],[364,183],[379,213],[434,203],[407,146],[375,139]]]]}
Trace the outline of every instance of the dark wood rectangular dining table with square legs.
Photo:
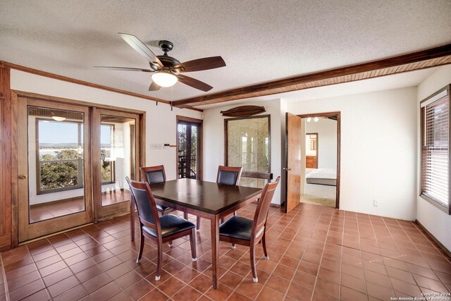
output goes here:
{"type": "MultiPolygon", "coordinates": [[[[233,211],[259,199],[263,190],[188,178],[152,184],[150,188],[159,204],[210,220],[211,271],[213,288],[218,288],[219,221],[233,211]]],[[[130,234],[134,240],[134,202],[130,202],[130,234]]]]}

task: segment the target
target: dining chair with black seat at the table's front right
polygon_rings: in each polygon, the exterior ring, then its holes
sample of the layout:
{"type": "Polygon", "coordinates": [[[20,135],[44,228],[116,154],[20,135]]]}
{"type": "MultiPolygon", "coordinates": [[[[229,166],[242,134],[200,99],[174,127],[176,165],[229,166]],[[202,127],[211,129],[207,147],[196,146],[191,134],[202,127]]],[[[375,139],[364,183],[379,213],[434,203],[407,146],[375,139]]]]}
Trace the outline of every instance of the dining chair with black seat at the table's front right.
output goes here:
{"type": "Polygon", "coordinates": [[[252,269],[252,279],[258,282],[257,266],[255,266],[255,247],[261,240],[261,246],[265,254],[265,259],[269,259],[266,251],[266,219],[268,210],[273,199],[274,191],[277,188],[280,177],[273,183],[267,183],[261,192],[261,197],[255,210],[254,219],[246,219],[242,216],[232,216],[219,226],[219,241],[230,242],[232,247],[245,245],[250,247],[250,259],[252,269]]]}

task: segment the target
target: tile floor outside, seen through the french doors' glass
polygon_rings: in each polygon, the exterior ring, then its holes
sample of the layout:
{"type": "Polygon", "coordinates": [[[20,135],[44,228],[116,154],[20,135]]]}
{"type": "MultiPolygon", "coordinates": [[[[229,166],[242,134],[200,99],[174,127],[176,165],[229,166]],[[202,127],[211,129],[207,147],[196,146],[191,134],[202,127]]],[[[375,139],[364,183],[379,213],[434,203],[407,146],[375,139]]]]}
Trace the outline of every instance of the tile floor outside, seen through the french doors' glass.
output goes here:
{"type": "MultiPolygon", "coordinates": [[[[130,201],[130,191],[114,190],[103,192],[101,195],[102,206],[108,206],[120,202],[130,201]]],[[[30,206],[30,221],[44,221],[54,217],[72,214],[85,210],[85,198],[61,199],[61,201],[30,206]]]]}

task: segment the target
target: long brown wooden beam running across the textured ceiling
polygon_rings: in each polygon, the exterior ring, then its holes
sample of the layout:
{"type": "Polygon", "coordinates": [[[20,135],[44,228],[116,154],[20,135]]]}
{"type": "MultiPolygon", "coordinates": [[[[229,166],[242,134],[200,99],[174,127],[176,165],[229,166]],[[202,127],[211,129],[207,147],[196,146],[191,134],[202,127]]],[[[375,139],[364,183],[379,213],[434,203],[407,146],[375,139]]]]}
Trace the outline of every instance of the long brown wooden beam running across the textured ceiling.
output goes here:
{"type": "Polygon", "coordinates": [[[343,82],[354,82],[369,78],[378,78],[412,70],[420,70],[451,63],[451,44],[403,54],[388,59],[360,63],[353,66],[324,70],[317,73],[297,75],[283,80],[273,80],[257,85],[240,87],[199,97],[191,97],[173,102],[173,106],[200,106],[218,104],[237,99],[261,97],[266,95],[304,90],[313,87],[335,85],[343,82]]]}

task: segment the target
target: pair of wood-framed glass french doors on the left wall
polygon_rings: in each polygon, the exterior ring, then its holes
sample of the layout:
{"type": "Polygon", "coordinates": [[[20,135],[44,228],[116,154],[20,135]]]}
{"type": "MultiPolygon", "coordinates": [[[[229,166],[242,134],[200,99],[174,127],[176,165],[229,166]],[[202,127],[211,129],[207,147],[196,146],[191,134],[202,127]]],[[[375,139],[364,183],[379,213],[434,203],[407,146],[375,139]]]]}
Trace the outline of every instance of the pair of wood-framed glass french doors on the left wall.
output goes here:
{"type": "Polygon", "coordinates": [[[18,242],[129,211],[139,114],[34,97],[18,97],[14,110],[18,242]]]}

